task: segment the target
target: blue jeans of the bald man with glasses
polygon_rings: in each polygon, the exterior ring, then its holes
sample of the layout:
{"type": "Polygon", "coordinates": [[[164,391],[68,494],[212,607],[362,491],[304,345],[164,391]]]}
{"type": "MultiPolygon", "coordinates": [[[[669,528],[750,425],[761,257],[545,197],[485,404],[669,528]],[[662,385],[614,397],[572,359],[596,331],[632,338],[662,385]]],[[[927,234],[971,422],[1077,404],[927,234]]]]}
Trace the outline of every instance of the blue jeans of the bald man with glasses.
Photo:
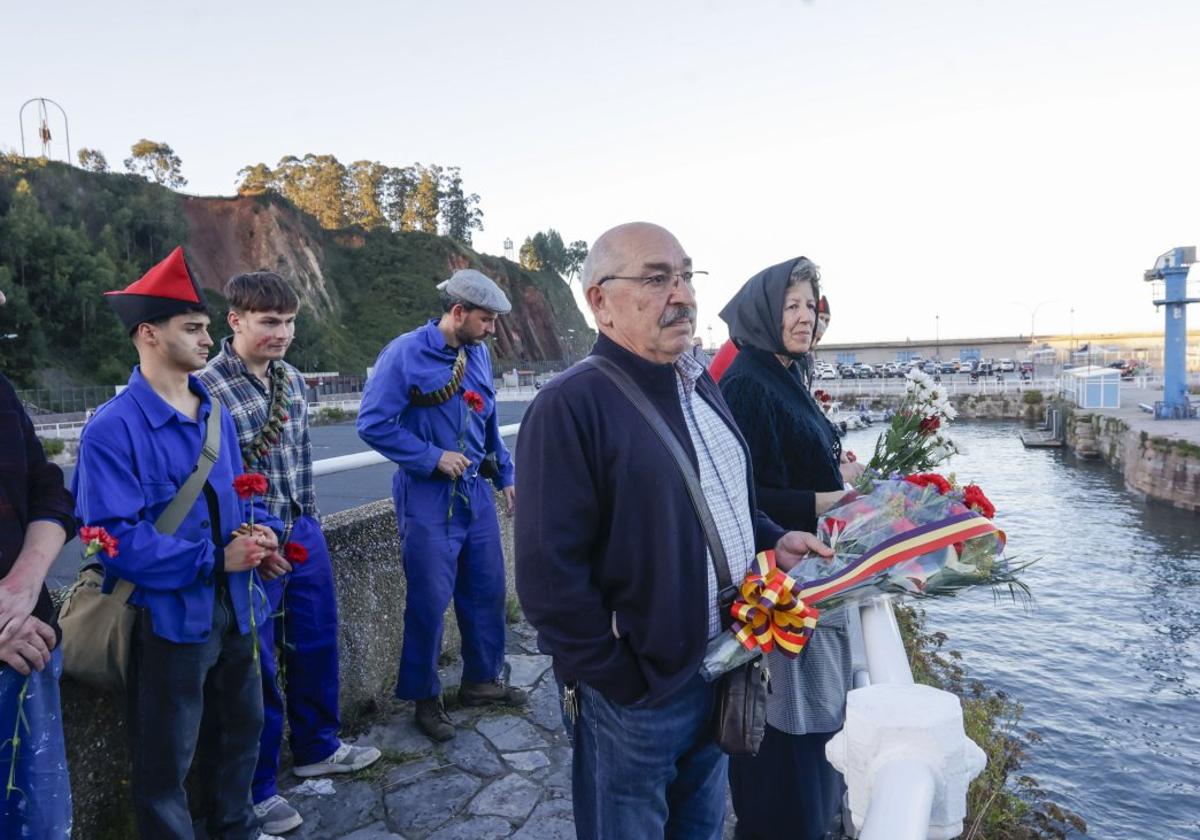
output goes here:
{"type": "Polygon", "coordinates": [[[715,688],[697,674],[655,707],[578,688],[571,788],[580,840],[720,840],[728,761],[712,738],[715,688]]]}

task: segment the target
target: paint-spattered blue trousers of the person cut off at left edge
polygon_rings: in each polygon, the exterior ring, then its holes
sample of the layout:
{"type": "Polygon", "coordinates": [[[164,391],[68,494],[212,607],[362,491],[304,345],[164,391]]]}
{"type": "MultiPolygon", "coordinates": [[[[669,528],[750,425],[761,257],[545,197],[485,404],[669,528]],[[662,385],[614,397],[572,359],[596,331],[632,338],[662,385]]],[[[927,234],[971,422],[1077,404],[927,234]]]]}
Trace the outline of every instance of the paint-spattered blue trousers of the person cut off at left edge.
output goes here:
{"type": "Polygon", "coordinates": [[[62,740],[62,713],[59,677],[62,653],[54,650],[42,671],[23,677],[0,665],[0,838],[42,838],[67,840],[71,836],[71,780],[62,740]],[[28,683],[26,683],[28,680],[28,683]],[[20,700],[24,688],[25,697],[20,700]],[[20,706],[20,749],[13,791],[7,792],[12,770],[12,737],[17,731],[20,706]]]}

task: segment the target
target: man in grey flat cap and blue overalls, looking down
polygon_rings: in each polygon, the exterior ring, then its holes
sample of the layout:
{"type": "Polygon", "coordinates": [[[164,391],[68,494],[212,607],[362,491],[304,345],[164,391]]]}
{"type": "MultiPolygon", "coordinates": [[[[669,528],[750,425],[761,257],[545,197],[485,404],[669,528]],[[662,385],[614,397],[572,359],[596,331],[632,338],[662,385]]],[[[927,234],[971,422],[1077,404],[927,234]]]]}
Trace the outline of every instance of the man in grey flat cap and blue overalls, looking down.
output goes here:
{"type": "Polygon", "coordinates": [[[479,271],[439,283],[442,317],[395,338],[376,361],[358,430],[400,468],[392,480],[404,534],[404,642],[396,696],[416,703],[434,740],[455,736],[442,704],[442,617],[454,598],[462,631],[466,706],[520,704],[504,662],[504,556],[491,479],[515,506],[512,460],[500,439],[492,360],[484,340],[511,308],[479,271]]]}

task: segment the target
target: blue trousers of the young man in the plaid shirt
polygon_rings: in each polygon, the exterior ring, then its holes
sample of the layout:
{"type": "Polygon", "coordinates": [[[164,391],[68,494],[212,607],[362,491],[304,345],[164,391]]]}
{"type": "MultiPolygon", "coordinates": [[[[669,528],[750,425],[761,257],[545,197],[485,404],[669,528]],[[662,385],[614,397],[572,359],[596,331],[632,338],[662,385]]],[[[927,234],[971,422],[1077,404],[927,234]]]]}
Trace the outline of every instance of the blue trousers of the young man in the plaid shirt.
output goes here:
{"type": "Polygon", "coordinates": [[[284,708],[288,744],[298,766],[324,761],[341,743],[337,738],[337,594],[329,546],[320,527],[307,516],[295,521],[289,539],[308,550],[308,559],[294,566],[290,575],[263,584],[271,619],[258,629],[263,662],[263,736],[254,769],[256,803],[277,792],[284,708]],[[282,680],[276,644],[284,666],[282,680]]]}

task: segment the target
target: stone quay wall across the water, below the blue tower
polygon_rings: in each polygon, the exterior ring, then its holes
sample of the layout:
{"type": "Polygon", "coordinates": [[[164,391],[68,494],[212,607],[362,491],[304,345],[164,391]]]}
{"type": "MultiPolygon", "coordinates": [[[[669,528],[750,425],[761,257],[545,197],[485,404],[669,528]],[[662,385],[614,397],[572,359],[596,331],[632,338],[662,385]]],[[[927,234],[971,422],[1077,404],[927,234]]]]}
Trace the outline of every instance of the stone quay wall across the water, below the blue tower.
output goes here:
{"type": "Polygon", "coordinates": [[[1079,457],[1103,460],[1144,497],[1200,514],[1200,445],[1104,412],[1064,410],[1067,445],[1079,457]]]}

